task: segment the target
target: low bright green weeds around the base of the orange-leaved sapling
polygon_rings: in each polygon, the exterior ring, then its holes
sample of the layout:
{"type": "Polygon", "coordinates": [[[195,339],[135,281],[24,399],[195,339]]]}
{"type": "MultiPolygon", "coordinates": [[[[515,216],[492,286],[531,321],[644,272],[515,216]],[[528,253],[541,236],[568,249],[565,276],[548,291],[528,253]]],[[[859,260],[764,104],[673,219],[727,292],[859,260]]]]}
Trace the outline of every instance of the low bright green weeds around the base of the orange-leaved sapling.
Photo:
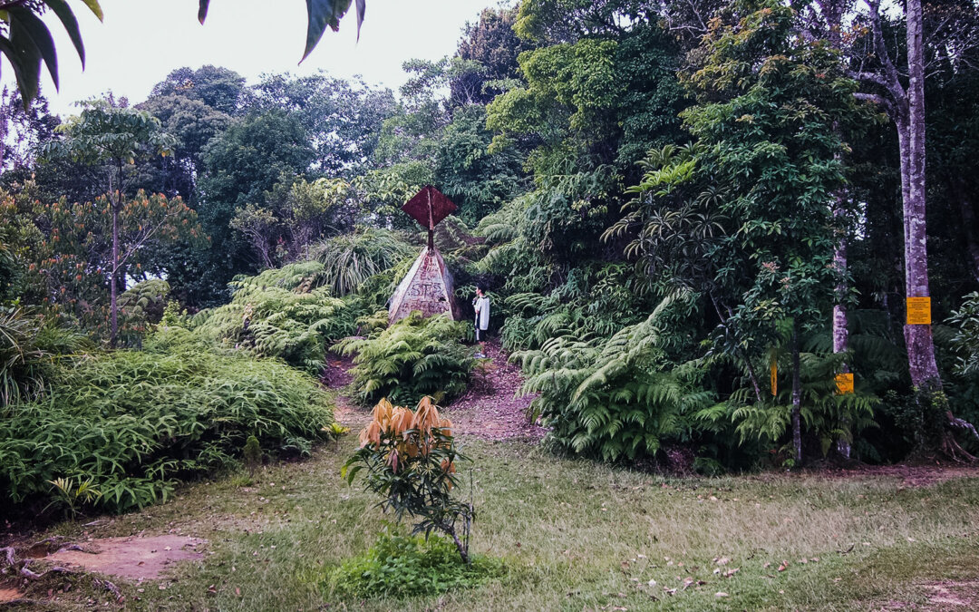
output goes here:
{"type": "Polygon", "coordinates": [[[482,555],[463,563],[452,542],[438,536],[382,534],[365,554],[334,570],[324,587],[338,596],[402,598],[472,588],[502,573],[499,561],[482,555]]]}

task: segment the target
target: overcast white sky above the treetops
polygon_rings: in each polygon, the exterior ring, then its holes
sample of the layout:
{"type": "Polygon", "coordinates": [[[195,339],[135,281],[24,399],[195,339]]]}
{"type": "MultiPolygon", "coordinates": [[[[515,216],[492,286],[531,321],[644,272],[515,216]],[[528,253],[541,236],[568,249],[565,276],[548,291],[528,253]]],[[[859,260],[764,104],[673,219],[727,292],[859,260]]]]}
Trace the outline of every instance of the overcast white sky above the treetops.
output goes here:
{"type": "MultiPolygon", "coordinates": [[[[72,103],[112,90],[130,102],[146,99],[169,71],[189,66],[223,66],[256,82],[262,72],[305,74],[318,70],[335,76],[362,74],[369,83],[399,86],[401,63],[411,58],[437,60],[455,51],[462,27],[497,0],[367,0],[366,18],[356,42],[351,12],[340,31],[327,29],[316,49],[303,56],[306,13],[303,0],[211,0],[206,24],[197,22],[197,0],[101,0],[100,24],[75,0],[85,42],[85,71],[64,27],[46,19],[58,47],[61,92],[47,70],[41,88],[51,110],[76,112],[72,103]],[[274,6],[275,9],[269,7],[274,6]]],[[[509,3],[504,3],[509,4],[509,3]]],[[[13,82],[4,60],[3,82],[13,82]]]]}

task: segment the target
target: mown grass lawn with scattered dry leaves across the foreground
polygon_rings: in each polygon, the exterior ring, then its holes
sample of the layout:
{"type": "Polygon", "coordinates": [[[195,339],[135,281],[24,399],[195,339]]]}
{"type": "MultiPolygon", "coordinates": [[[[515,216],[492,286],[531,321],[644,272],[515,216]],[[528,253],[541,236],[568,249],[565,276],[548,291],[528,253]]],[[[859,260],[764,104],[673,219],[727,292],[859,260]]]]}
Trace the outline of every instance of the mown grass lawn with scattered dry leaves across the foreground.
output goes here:
{"type": "MultiPolygon", "coordinates": [[[[663,479],[472,441],[472,546],[504,559],[505,576],[437,597],[334,601],[323,577],[365,551],[384,521],[373,497],[340,479],[354,444],[266,468],[251,488],[201,483],[96,528],[55,531],[210,541],[206,558],[176,566],[164,589],[120,585],[127,610],[879,609],[925,603],[930,581],[979,577],[976,478],[921,488],[879,476],[663,479]]],[[[60,596],[69,610],[107,600],[60,596]]]]}

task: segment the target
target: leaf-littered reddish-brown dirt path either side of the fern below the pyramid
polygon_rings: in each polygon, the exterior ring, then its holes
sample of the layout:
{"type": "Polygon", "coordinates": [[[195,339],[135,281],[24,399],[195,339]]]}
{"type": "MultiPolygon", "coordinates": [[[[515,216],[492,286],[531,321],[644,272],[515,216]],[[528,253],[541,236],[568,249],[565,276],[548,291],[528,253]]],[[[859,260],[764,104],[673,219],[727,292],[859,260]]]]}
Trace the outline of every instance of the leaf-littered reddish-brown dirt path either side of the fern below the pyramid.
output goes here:
{"type": "MultiPolygon", "coordinates": [[[[499,343],[487,343],[488,360],[473,372],[469,390],[449,403],[443,414],[452,421],[456,435],[494,442],[538,441],[545,430],[527,421],[527,408],[534,398],[519,396],[523,377],[520,367],[507,361],[499,343]]],[[[350,359],[332,358],[323,370],[323,384],[340,389],[350,384],[350,359]]],[[[356,430],[367,424],[370,410],[341,395],[335,410],[337,421],[356,430]]]]}

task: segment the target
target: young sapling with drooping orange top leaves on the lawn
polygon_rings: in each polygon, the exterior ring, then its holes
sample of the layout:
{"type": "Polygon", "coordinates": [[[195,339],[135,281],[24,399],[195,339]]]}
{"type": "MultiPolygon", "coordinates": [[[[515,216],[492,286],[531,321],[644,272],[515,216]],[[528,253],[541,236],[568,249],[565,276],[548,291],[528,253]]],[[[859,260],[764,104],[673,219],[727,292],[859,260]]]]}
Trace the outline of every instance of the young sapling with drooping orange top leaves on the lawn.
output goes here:
{"type": "Polygon", "coordinates": [[[383,496],[381,509],[394,511],[398,522],[405,514],[413,517],[413,534],[442,532],[469,563],[473,506],[452,496],[458,486],[455,466],[465,457],[455,447],[452,423],[432,399],[423,398],[414,410],[379,401],[359,439],[341,472],[347,482],[366,469],[365,487],[383,496]]]}

